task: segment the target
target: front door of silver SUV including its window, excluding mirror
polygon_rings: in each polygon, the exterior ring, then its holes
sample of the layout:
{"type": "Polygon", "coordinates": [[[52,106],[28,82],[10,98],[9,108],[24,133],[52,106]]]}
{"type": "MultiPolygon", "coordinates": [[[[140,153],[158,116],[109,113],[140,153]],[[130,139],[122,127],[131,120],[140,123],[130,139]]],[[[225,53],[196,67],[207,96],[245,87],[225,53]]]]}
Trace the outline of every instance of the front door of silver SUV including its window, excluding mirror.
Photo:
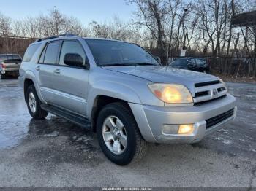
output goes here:
{"type": "Polygon", "coordinates": [[[53,103],[86,117],[89,70],[66,65],[64,56],[67,53],[79,54],[83,58],[84,65],[89,64],[86,52],[78,40],[67,39],[62,42],[59,67],[53,74],[53,103]]]}

